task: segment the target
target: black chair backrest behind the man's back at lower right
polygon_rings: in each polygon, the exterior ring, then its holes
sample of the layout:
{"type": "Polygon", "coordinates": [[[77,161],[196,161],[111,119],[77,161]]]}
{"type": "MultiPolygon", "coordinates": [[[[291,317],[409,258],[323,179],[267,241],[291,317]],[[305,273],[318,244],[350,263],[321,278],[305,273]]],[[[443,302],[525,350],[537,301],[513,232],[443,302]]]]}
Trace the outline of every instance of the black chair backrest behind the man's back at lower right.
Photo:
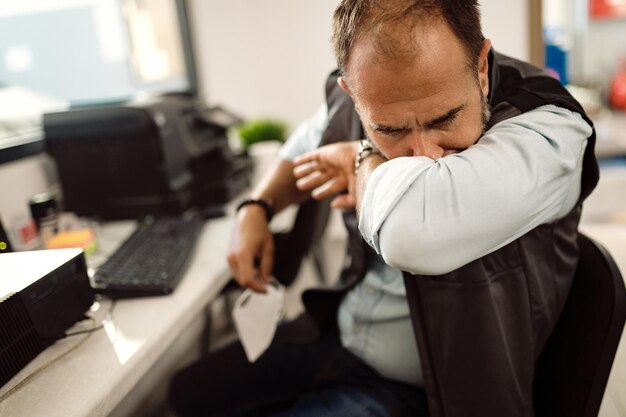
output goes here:
{"type": "Polygon", "coordinates": [[[597,416],[626,321],[624,281],[611,255],[579,235],[580,260],[563,313],[539,358],[536,417],[597,416]]]}

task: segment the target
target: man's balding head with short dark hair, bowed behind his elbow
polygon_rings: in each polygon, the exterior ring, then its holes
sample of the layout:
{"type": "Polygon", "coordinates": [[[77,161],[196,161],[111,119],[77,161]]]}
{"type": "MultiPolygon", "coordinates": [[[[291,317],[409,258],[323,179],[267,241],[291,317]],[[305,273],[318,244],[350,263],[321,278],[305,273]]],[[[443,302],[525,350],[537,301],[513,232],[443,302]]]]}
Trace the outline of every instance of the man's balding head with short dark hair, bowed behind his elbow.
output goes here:
{"type": "Polygon", "coordinates": [[[338,9],[339,85],[388,159],[459,152],[478,140],[489,119],[491,42],[478,31],[478,52],[468,52],[443,4],[344,0],[338,9]]]}

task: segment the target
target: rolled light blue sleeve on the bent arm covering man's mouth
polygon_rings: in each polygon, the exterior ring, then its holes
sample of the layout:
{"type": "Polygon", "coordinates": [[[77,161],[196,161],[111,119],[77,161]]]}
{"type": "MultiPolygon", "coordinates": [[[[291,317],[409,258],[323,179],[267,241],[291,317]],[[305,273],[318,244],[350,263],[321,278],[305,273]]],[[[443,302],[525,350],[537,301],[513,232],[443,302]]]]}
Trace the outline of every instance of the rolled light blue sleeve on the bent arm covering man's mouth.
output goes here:
{"type": "Polygon", "coordinates": [[[496,124],[463,152],[387,161],[366,186],[361,234],[392,267],[453,271],[565,216],[591,133],[579,114],[548,105],[496,124]]]}

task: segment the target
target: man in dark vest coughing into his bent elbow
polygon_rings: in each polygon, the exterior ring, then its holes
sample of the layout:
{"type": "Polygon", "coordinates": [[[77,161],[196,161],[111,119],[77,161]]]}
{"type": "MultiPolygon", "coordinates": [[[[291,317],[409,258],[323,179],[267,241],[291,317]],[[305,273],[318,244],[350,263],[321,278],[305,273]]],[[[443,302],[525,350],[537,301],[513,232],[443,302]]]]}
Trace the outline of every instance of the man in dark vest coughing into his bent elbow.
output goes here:
{"type": "Polygon", "coordinates": [[[327,107],[240,206],[229,263],[264,291],[272,207],[332,197],[344,285],[305,292],[306,314],[254,364],[235,344],[183,370],[176,410],[532,416],[597,182],[591,123],[557,81],[491,49],[475,1],[344,0],[333,42],[327,107]]]}

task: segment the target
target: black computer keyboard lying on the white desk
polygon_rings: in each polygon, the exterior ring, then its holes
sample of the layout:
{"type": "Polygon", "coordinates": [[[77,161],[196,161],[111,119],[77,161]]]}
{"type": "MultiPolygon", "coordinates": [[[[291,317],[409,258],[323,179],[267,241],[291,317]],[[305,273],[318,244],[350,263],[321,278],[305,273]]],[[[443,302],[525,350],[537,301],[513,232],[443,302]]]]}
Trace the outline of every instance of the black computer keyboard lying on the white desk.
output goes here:
{"type": "Polygon", "coordinates": [[[202,230],[200,216],[146,217],[98,268],[94,291],[113,298],[170,294],[202,230]]]}

